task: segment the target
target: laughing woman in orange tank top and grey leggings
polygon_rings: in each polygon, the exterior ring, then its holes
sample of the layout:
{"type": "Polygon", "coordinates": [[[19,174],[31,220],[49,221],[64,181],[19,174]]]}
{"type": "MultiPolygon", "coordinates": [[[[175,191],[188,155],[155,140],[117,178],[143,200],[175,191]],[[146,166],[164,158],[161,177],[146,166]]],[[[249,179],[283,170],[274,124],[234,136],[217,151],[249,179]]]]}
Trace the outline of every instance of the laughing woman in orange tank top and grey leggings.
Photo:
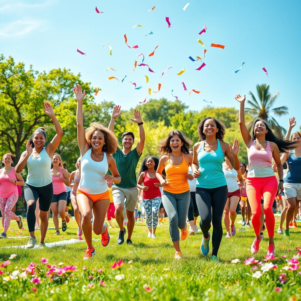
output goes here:
{"type": "Polygon", "coordinates": [[[188,166],[192,164],[192,155],[189,154],[191,143],[192,141],[181,131],[174,130],[160,141],[158,147],[162,157],[159,160],[156,177],[163,187],[162,203],[169,218],[169,234],[175,247],[175,259],[182,258],[179,229],[182,240],[188,235],[186,224],[190,203],[188,179],[193,179],[193,176],[188,174],[188,166]],[[166,178],[162,175],[163,169],[166,178]]]}

